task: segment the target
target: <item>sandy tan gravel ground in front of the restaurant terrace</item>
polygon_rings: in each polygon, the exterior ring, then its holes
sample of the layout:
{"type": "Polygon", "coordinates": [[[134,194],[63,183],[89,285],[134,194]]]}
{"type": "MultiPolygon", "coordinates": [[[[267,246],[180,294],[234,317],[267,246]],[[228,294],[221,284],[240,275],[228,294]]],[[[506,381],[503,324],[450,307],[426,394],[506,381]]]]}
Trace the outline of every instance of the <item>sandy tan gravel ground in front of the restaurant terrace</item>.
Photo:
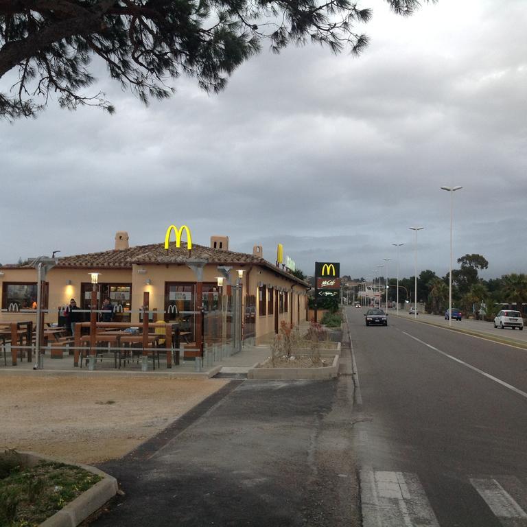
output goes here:
{"type": "Polygon", "coordinates": [[[0,448],[91,465],[119,458],[226,382],[2,375],[0,448]]]}

